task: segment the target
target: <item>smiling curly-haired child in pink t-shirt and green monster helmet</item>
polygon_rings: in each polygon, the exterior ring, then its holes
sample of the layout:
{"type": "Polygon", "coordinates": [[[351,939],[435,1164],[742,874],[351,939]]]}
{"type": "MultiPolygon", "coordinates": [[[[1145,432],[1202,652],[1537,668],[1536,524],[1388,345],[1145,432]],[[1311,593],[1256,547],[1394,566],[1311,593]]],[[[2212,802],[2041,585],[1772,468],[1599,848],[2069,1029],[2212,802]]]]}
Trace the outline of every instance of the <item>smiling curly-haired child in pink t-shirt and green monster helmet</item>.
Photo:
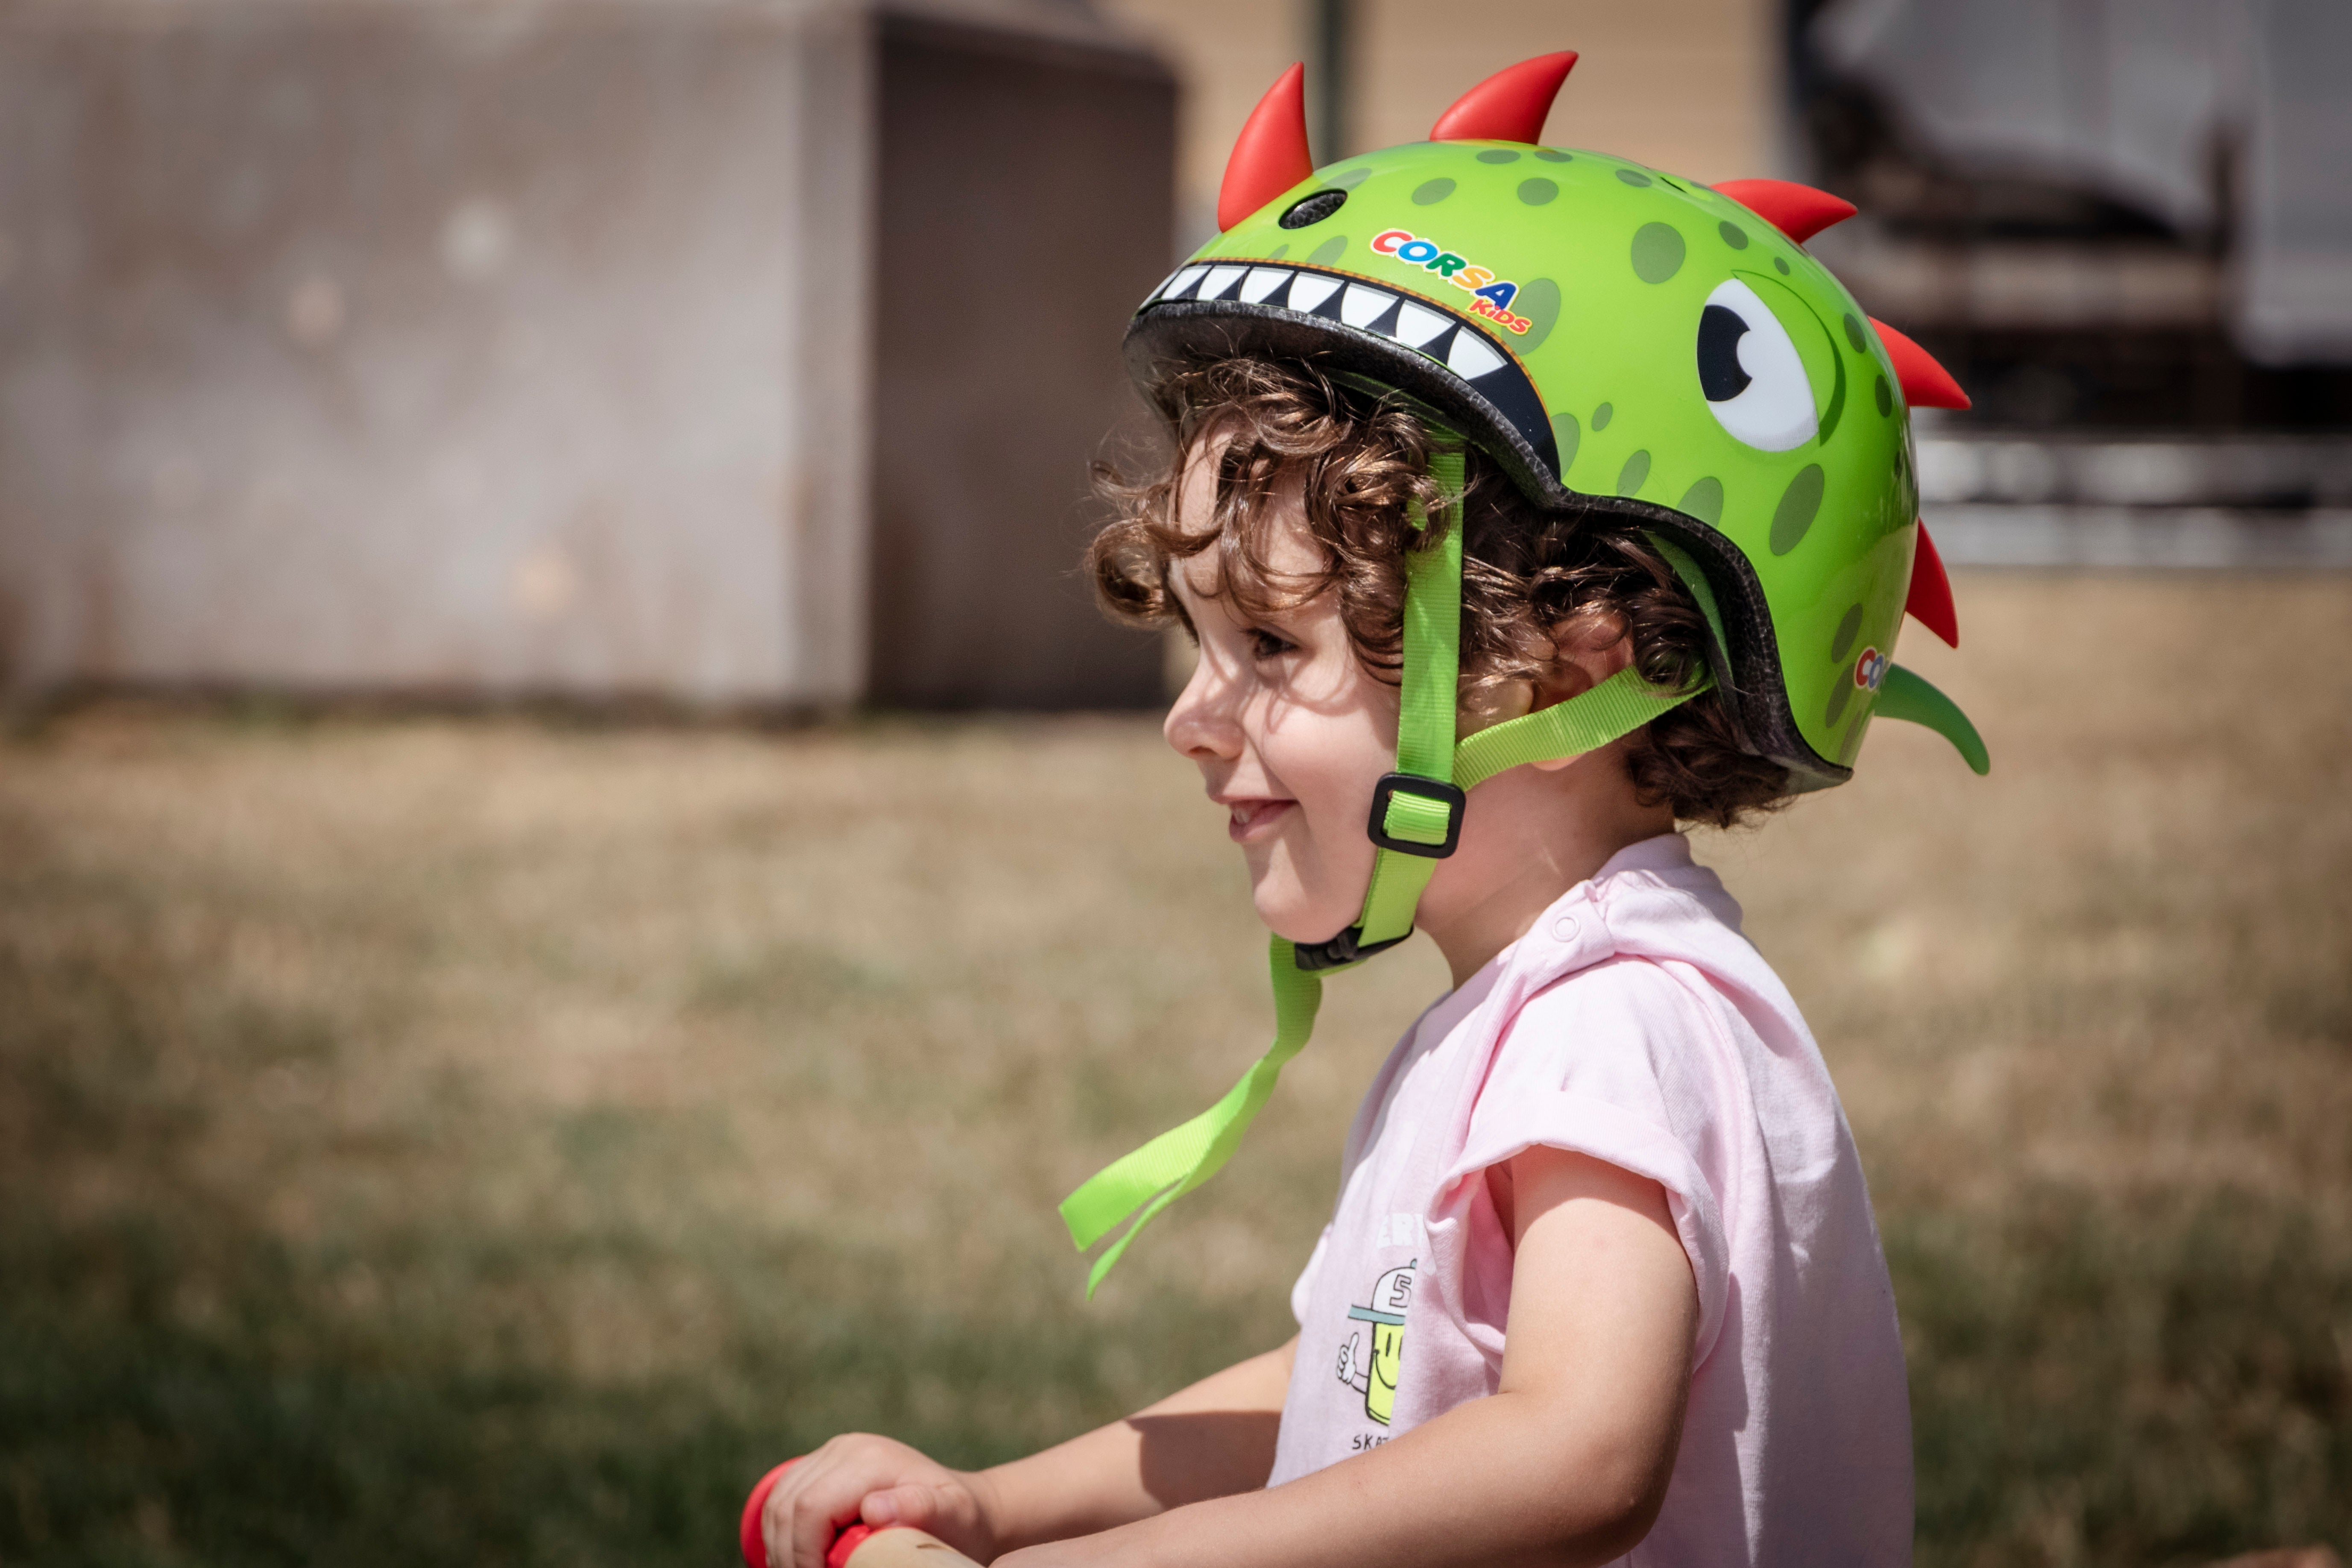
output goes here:
{"type": "Polygon", "coordinates": [[[1129,331],[1176,458],[1091,559],[1200,644],[1167,736],[1282,1027],[1063,1213],[1134,1239],[1223,1164],[1317,973],[1418,926],[1454,990],[1364,1098],[1301,1333],[988,1472],[835,1439],[769,1495],[771,1563],[854,1519],[1014,1568],[1910,1559],[1853,1140],[1675,823],[1839,783],[1872,712],[1983,771],[1884,654],[1905,607],[1952,635],[1905,404],[1957,388],[1799,249],[1835,197],[1538,148],[1571,61],[1324,172],[1294,71],[1129,331]]]}

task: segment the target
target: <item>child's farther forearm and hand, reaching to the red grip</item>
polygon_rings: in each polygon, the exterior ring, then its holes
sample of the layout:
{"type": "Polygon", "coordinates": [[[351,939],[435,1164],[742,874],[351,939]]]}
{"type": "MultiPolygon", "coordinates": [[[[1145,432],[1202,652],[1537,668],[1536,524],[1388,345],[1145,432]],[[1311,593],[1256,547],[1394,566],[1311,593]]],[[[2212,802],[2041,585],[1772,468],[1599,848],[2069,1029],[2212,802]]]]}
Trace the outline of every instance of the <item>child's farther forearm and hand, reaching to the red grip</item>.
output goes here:
{"type": "Polygon", "coordinates": [[[995,1469],[936,1465],[887,1436],[837,1436],[786,1472],[760,1514],[767,1561],[816,1568],[835,1528],[910,1523],[990,1561],[1265,1486],[1298,1340],[1160,1403],[995,1469]]]}

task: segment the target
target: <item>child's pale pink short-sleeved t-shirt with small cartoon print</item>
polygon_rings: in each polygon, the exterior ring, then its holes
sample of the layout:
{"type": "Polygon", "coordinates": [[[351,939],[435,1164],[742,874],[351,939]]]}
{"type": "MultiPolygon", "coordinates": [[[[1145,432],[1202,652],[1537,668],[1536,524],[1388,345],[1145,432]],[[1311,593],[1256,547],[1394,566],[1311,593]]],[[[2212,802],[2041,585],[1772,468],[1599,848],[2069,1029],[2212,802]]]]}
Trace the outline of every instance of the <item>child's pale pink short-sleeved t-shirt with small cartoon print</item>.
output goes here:
{"type": "Polygon", "coordinates": [[[1291,1309],[1270,1483],[1494,1394],[1534,1145],[1665,1187],[1698,1281],[1665,1509],[1628,1563],[1907,1563],[1893,1291],[1820,1051],[1679,835],[1621,851],[1423,1013],[1364,1095],[1291,1309]]]}

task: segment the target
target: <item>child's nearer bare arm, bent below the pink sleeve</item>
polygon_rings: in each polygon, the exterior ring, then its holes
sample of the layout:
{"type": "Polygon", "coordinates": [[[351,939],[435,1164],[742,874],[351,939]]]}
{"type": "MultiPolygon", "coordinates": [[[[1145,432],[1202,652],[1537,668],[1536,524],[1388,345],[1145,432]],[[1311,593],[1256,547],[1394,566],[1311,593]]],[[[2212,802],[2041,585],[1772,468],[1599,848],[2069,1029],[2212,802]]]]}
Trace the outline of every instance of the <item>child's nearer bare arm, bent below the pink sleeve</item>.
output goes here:
{"type": "Polygon", "coordinates": [[[1651,1180],[1559,1150],[1529,1150],[1508,1175],[1517,1258],[1491,1399],[1287,1486],[1021,1552],[1004,1568],[1564,1568],[1630,1552],[1658,1516],[1682,1439],[1691,1265],[1651,1180]]]}

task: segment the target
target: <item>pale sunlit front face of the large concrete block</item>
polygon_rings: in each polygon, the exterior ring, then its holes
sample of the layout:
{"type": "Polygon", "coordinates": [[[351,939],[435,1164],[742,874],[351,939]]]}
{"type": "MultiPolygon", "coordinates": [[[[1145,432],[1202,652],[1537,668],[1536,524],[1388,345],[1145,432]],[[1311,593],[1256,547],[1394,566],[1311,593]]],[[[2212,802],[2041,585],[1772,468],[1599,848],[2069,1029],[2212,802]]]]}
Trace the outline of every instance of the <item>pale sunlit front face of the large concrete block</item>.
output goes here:
{"type": "Polygon", "coordinates": [[[866,78],[840,12],[12,9],[9,682],[854,696],[866,78]]]}

